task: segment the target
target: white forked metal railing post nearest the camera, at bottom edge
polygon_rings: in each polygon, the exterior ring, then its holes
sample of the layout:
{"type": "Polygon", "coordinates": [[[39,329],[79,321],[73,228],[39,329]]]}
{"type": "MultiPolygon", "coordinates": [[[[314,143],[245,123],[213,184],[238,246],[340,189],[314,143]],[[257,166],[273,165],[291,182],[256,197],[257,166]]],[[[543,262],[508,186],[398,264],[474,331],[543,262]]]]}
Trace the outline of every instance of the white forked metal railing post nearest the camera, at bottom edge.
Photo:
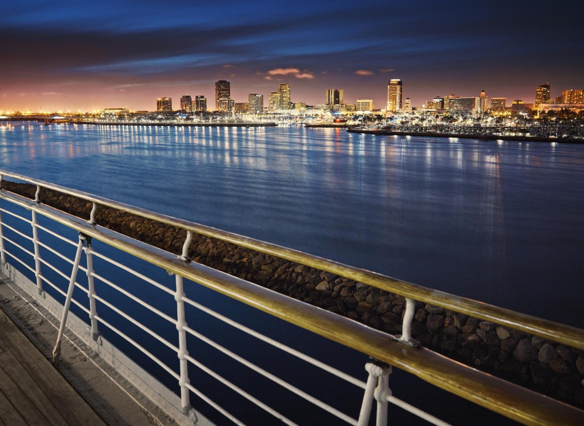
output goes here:
{"type": "Polygon", "coordinates": [[[377,364],[367,362],[365,369],[369,373],[369,377],[363,394],[357,426],[369,425],[373,399],[377,401],[376,426],[387,426],[387,397],[391,395],[389,387],[391,366],[380,362],[377,364]]]}

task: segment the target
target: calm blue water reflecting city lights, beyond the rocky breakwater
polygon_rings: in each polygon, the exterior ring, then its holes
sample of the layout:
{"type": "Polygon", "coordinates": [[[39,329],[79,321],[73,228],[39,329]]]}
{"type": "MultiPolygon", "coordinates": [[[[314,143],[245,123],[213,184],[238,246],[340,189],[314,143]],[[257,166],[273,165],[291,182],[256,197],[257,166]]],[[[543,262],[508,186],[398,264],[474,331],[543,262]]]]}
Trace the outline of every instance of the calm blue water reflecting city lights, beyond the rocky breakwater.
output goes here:
{"type": "Polygon", "coordinates": [[[25,123],[0,167],[584,326],[584,145],[25,123]]]}

